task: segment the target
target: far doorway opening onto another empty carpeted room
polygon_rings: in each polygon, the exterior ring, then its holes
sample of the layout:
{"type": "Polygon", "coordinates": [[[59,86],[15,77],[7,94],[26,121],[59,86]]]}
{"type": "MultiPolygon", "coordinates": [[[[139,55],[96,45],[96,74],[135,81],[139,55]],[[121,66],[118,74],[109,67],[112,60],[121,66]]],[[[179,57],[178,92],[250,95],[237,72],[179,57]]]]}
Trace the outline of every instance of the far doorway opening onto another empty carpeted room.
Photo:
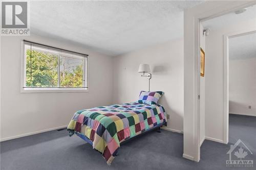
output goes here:
{"type": "Polygon", "coordinates": [[[229,35],[226,40],[226,138],[248,145],[256,143],[252,137],[256,135],[256,30],[229,35]]]}

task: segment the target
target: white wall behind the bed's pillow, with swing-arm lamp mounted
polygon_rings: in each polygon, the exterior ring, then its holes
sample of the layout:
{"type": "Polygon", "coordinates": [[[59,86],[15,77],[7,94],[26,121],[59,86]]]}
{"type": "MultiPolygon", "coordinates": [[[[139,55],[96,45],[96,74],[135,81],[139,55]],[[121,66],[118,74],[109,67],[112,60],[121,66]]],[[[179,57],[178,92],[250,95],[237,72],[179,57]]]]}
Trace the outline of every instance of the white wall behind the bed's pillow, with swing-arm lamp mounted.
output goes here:
{"type": "Polygon", "coordinates": [[[114,103],[135,102],[148,79],[138,73],[140,63],[150,64],[151,91],[164,91],[159,103],[170,115],[167,128],[183,131],[183,40],[151,46],[117,56],[114,60],[114,103]]]}

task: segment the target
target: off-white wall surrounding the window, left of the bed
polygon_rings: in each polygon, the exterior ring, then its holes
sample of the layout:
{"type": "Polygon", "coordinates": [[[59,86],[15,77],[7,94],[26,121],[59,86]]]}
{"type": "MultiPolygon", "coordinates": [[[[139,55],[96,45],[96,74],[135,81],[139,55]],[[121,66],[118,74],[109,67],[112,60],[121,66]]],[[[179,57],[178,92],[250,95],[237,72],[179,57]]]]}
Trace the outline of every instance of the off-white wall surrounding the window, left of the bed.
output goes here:
{"type": "Polygon", "coordinates": [[[1,140],[68,125],[75,111],[112,104],[112,58],[37,36],[1,37],[1,140]],[[89,54],[89,92],[20,93],[22,39],[89,54]]]}

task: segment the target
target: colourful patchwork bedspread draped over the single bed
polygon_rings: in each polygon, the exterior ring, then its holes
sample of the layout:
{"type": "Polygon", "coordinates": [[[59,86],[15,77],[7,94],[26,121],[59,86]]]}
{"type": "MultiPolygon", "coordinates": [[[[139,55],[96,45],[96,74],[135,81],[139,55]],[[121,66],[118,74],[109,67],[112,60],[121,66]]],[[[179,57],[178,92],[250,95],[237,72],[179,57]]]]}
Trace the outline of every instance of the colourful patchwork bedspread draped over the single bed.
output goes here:
{"type": "Polygon", "coordinates": [[[89,138],[111,164],[122,141],[165,122],[161,105],[126,103],[77,111],[68,130],[70,136],[78,133],[89,138]]]}

